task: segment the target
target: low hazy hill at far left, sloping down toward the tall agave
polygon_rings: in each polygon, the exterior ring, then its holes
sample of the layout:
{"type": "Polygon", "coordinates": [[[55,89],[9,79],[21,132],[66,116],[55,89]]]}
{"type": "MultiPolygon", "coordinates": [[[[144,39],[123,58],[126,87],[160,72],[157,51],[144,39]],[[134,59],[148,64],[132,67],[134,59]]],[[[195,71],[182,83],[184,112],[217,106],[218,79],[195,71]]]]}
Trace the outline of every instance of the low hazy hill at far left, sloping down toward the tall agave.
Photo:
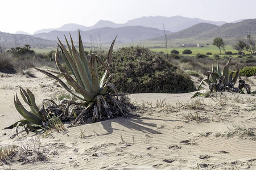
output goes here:
{"type": "Polygon", "coordinates": [[[26,44],[29,44],[31,48],[46,48],[48,46],[56,46],[55,42],[40,39],[38,37],[0,32],[0,45],[3,49],[15,48],[16,46],[23,47],[26,44]]]}

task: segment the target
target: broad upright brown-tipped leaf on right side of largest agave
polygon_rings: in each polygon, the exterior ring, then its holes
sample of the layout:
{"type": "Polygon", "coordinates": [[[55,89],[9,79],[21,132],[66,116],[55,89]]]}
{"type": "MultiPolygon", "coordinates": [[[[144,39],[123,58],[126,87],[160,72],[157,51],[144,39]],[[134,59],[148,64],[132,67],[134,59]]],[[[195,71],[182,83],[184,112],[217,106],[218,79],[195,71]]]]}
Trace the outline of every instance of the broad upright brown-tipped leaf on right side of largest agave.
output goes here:
{"type": "Polygon", "coordinates": [[[96,54],[90,55],[88,62],[90,74],[92,75],[92,92],[98,94],[101,91],[100,82],[98,80],[98,65],[96,60],[96,54]]]}

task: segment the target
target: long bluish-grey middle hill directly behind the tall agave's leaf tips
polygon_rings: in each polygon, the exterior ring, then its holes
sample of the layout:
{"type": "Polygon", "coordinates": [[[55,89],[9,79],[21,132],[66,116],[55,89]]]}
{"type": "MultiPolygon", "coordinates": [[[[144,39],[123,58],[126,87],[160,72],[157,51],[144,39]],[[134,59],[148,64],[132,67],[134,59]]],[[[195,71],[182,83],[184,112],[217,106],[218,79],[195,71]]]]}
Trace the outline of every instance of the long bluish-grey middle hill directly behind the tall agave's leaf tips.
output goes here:
{"type": "MultiPolygon", "coordinates": [[[[112,42],[114,37],[118,35],[116,43],[127,43],[134,41],[141,41],[146,39],[152,39],[155,37],[163,36],[164,32],[156,28],[147,28],[142,26],[131,26],[131,27],[118,27],[118,28],[97,28],[89,31],[80,31],[82,40],[84,42],[94,41],[95,43],[109,43],[112,42]]],[[[70,32],[73,41],[78,41],[78,32],[70,32]]],[[[167,31],[167,33],[171,33],[167,31]]],[[[39,33],[34,35],[35,37],[40,37],[42,39],[56,41],[57,37],[60,40],[64,40],[64,35],[69,37],[69,32],[64,31],[51,31],[49,33],[39,33]]]]}

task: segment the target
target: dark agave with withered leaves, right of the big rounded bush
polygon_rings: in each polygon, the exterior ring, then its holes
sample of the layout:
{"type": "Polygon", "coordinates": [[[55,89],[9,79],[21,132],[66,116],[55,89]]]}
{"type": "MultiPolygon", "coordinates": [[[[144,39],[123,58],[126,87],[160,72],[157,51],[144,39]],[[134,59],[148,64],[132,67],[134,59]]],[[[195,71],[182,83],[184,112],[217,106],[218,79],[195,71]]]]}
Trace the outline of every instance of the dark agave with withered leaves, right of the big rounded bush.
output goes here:
{"type": "MultiPolygon", "coordinates": [[[[224,90],[232,90],[232,91],[238,92],[243,87],[245,87],[245,86],[234,87],[234,84],[236,84],[239,76],[239,67],[237,65],[237,71],[232,71],[231,73],[229,73],[229,65],[232,58],[233,57],[229,58],[229,61],[224,66],[222,73],[220,71],[220,67],[218,66],[218,62],[217,62],[216,72],[214,71],[214,68],[212,65],[212,71],[207,72],[207,79],[203,79],[201,81],[201,83],[199,84],[199,87],[197,88],[196,94],[193,95],[192,98],[199,95],[201,96],[204,95],[203,93],[199,92],[199,89],[204,82],[208,84],[210,93],[212,93],[213,91],[218,92],[218,91],[224,91],[224,90]],[[236,74],[234,75],[234,73],[236,74]]],[[[246,91],[247,91],[247,88],[246,88],[246,91]]]]}

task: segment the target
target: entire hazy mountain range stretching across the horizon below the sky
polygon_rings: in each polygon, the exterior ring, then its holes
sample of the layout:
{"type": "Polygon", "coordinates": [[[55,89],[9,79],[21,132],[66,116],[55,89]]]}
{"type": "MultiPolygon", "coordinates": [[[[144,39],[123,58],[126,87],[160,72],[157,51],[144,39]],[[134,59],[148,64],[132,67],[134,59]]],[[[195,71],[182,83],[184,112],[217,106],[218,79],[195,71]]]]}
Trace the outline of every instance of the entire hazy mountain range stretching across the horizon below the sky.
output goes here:
{"type": "Polygon", "coordinates": [[[32,48],[56,46],[57,37],[63,41],[64,35],[69,39],[69,33],[73,37],[73,41],[78,41],[77,29],[80,29],[83,42],[89,44],[109,44],[116,35],[118,35],[116,44],[129,44],[136,41],[138,44],[143,40],[147,40],[147,42],[151,41],[151,44],[155,44],[156,42],[154,41],[158,41],[159,43],[165,40],[164,31],[161,28],[163,25],[160,23],[164,23],[169,42],[172,42],[170,40],[179,39],[182,41],[202,40],[212,42],[214,37],[236,40],[237,37],[246,37],[249,34],[254,37],[256,36],[256,19],[225,23],[205,22],[205,20],[185,18],[182,16],[173,16],[170,18],[164,16],[148,16],[129,20],[125,24],[115,24],[104,20],[100,20],[92,27],[65,24],[63,27],[56,29],[41,29],[34,35],[25,35],[26,33],[24,32],[18,32],[22,34],[0,32],[0,46],[5,49],[23,46],[25,44],[30,44],[32,48]],[[170,23],[164,23],[164,20],[168,20],[170,23]],[[180,27],[177,25],[180,25],[180,27]],[[180,31],[171,32],[170,30],[180,31]]]}

